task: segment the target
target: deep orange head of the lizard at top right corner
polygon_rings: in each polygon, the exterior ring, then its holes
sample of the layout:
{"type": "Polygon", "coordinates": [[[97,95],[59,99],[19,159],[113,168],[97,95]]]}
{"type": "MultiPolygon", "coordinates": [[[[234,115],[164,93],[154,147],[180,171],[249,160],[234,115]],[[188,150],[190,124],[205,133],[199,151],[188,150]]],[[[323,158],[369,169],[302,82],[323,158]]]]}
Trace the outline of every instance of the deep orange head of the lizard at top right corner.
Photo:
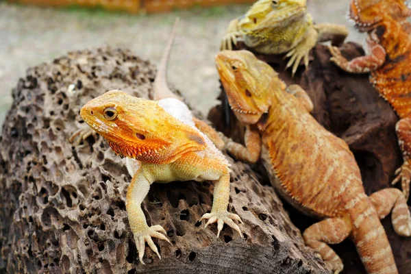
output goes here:
{"type": "Polygon", "coordinates": [[[400,21],[411,12],[404,0],[351,0],[348,18],[360,32],[375,29],[386,16],[400,21]]]}

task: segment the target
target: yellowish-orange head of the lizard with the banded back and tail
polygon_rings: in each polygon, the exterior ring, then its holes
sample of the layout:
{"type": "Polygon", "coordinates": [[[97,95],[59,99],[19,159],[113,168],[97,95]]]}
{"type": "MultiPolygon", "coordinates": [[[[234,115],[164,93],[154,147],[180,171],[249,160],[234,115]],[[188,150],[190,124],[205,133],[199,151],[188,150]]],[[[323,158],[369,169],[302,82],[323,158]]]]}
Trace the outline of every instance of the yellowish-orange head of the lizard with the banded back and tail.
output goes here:
{"type": "MultiPolygon", "coordinates": [[[[254,124],[271,105],[273,88],[278,86],[277,73],[249,51],[221,51],[215,57],[216,67],[227,94],[229,105],[242,123],[254,124]]],[[[281,86],[281,88],[284,88],[281,86]]]]}

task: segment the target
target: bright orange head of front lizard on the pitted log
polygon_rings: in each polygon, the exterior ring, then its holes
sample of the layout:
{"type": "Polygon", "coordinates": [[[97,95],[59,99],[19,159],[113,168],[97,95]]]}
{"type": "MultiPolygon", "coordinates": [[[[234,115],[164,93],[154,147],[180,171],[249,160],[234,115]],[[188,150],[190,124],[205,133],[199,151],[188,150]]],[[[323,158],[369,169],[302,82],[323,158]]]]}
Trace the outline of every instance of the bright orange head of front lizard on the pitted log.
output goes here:
{"type": "Polygon", "coordinates": [[[121,90],[90,100],[80,115],[114,152],[142,162],[166,163],[180,153],[206,147],[195,129],[175,119],[156,101],[121,90]]]}

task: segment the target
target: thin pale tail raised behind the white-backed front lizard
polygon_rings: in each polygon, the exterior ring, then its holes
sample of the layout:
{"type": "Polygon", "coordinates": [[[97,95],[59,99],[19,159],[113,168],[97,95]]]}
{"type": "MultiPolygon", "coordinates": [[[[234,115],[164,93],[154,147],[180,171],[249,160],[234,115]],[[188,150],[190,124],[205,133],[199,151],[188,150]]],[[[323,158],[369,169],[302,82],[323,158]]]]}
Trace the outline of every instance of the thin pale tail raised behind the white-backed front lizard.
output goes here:
{"type": "Polygon", "coordinates": [[[166,49],[162,55],[160,66],[158,66],[157,75],[155,75],[153,99],[156,101],[164,98],[180,99],[177,95],[171,92],[169,86],[167,85],[167,64],[169,63],[171,47],[173,47],[178,22],[179,18],[177,17],[175,19],[173,30],[171,31],[169,42],[167,43],[166,49]]]}

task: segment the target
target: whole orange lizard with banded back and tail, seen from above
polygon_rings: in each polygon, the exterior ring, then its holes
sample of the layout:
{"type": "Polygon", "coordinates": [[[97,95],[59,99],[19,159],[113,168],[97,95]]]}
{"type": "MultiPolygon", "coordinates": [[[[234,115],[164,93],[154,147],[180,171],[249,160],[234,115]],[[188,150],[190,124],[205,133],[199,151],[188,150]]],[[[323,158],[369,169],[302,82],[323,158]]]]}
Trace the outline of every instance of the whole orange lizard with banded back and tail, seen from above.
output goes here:
{"type": "Polygon", "coordinates": [[[393,210],[393,227],[411,235],[403,193],[386,188],[367,197],[353,153],[310,115],[312,103],[297,85],[286,87],[268,64],[249,51],[222,51],[216,66],[234,114],[246,126],[245,147],[228,140],[236,158],[262,157],[271,182],[293,206],[321,219],[303,232],[339,273],[343,262],[328,246],[350,237],[368,273],[397,273],[393,252],[379,219],[393,210]]]}

